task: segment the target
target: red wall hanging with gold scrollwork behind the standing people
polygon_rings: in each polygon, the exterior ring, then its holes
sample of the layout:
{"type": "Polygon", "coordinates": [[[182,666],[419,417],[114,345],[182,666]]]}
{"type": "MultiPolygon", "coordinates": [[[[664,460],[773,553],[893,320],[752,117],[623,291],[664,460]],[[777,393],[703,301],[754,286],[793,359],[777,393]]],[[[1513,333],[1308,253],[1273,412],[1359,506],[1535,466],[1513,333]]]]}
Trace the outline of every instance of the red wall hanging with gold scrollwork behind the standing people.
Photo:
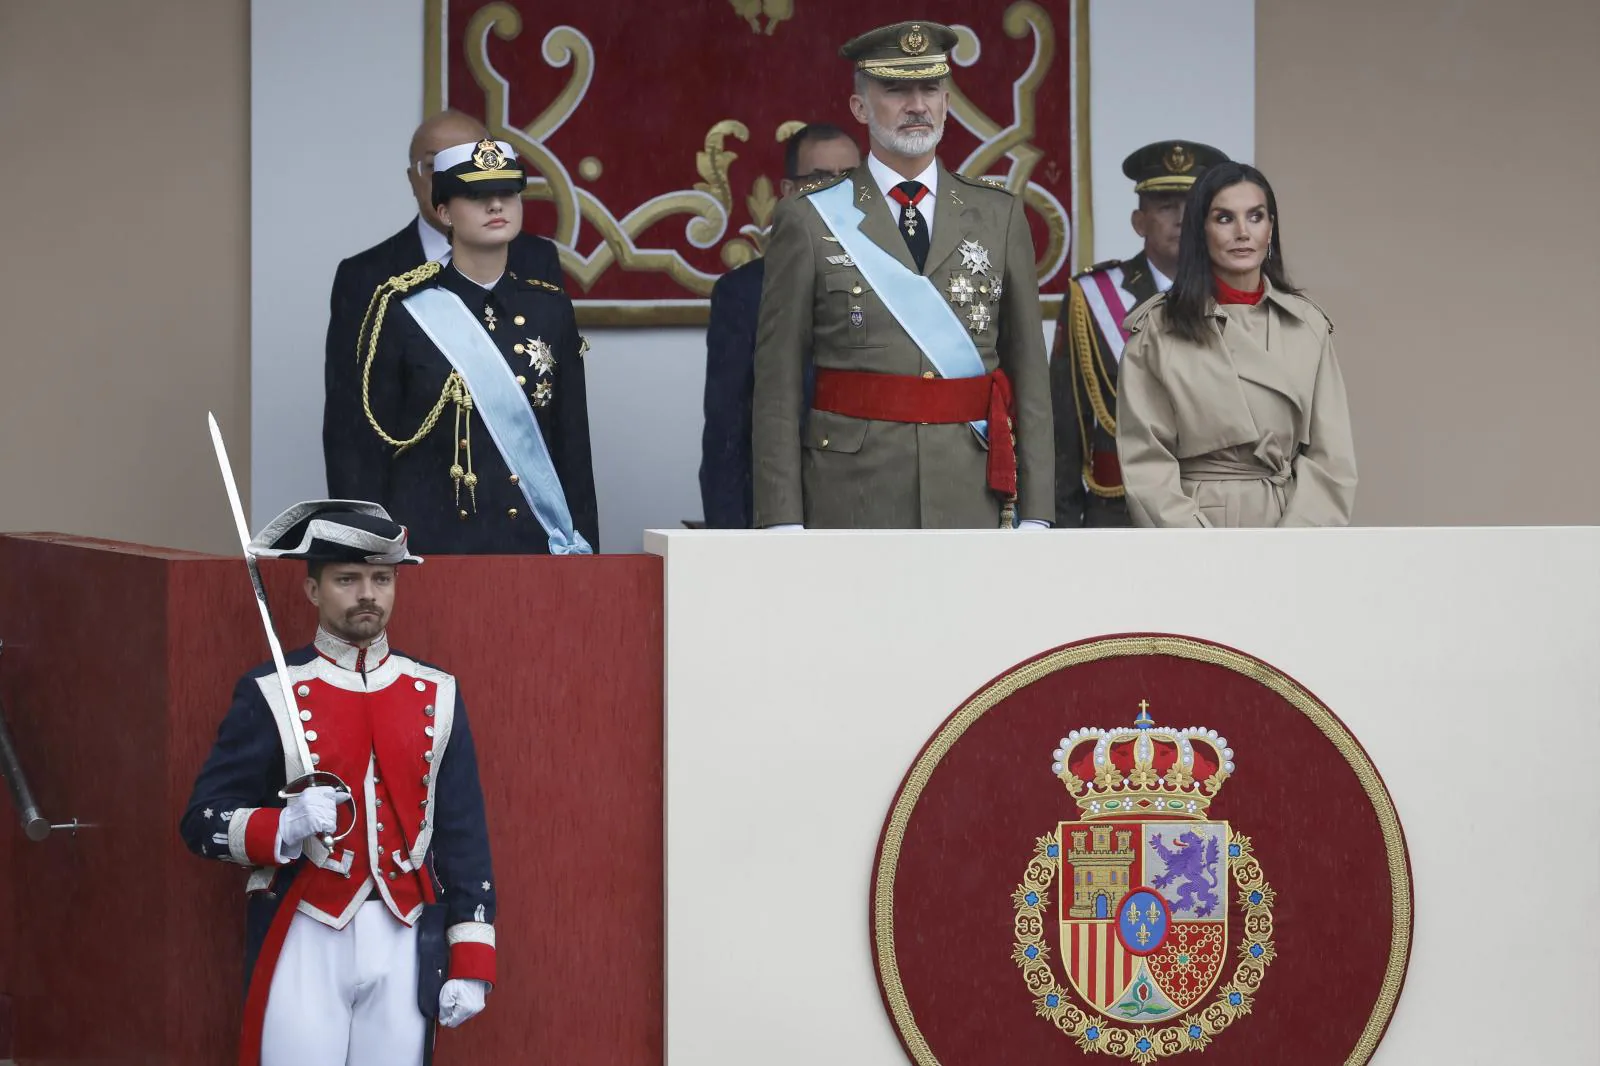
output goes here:
{"type": "Polygon", "coordinates": [[[526,227],[586,261],[566,264],[579,309],[704,298],[715,275],[762,246],[784,176],[781,125],[830,122],[866,149],[840,45],[910,16],[965,26],[981,54],[954,67],[970,102],[952,98],[939,157],[973,176],[1032,182],[1043,291],[1059,295],[1072,210],[1070,14],[1070,0],[925,0],[915,11],[885,0],[429,0],[429,59],[440,66],[429,72],[429,106],[485,118],[542,178],[531,195],[544,202],[528,205],[526,227]],[[725,122],[744,136],[714,138],[725,122]],[[997,150],[973,158],[986,141],[997,150]],[[720,174],[712,144],[738,160],[720,174]],[[696,187],[722,206],[690,229],[683,205],[709,203],[696,187]],[[654,211],[646,205],[656,197],[678,206],[654,211]],[[1058,254],[1046,261],[1053,240],[1058,254]]]}

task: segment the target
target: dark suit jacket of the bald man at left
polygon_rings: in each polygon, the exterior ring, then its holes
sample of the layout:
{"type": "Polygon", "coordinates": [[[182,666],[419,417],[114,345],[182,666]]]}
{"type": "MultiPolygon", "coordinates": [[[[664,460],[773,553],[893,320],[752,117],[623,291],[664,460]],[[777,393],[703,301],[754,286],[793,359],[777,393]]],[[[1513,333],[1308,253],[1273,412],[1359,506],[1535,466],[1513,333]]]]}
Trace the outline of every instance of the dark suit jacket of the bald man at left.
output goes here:
{"type": "MultiPolygon", "coordinates": [[[[422,266],[422,238],[413,219],[394,237],[366,251],[357,253],[339,264],[333,274],[333,291],[328,298],[328,343],[323,363],[322,448],[323,467],[328,475],[328,496],[334,499],[362,499],[352,485],[354,466],[338,448],[341,432],[352,419],[362,421],[362,365],[355,357],[355,335],[366,315],[366,304],[379,285],[392,277],[422,266]]],[[[536,277],[554,285],[562,283],[562,259],[555,243],[518,234],[509,248],[509,269],[522,277],[536,277]]],[[[592,543],[592,541],[590,541],[592,543]]]]}

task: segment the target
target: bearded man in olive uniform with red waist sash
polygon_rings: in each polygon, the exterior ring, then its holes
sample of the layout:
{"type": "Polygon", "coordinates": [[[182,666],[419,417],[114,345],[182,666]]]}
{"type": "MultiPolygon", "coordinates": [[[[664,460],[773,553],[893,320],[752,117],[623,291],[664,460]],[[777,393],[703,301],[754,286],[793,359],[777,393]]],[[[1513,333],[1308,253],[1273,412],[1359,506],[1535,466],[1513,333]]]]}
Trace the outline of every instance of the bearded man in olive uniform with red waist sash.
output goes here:
{"type": "Polygon", "coordinates": [[[936,157],[954,46],[947,26],[901,22],[840,50],[872,152],[778,205],[755,347],[757,527],[1046,527],[1054,515],[1022,202],[936,157]]]}

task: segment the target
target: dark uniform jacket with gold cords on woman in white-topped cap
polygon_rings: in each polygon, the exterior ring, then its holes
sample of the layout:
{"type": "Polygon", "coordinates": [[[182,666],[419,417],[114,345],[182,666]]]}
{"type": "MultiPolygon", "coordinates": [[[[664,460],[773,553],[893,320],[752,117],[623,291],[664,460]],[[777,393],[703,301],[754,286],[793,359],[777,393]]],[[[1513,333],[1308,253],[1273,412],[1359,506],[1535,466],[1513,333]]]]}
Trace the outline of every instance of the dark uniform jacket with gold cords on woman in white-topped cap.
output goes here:
{"type": "MultiPolygon", "coordinates": [[[[427,432],[414,445],[395,448],[378,435],[357,400],[363,416],[346,423],[333,445],[352,456],[350,498],[382,504],[410,530],[411,549],[421,555],[549,552],[549,538],[482,418],[477,413],[458,418],[450,402],[440,407],[450,360],[402,306],[406,296],[432,285],[459,296],[485,327],[494,323],[488,336],[528,394],[573,525],[598,546],[589,395],[573,303],[560,287],[522,279],[515,271],[485,290],[446,266],[434,279],[390,298],[378,325],[378,352],[366,381],[371,419],[397,440],[427,432]],[[451,477],[456,466],[461,479],[451,477]]],[[[368,344],[370,336],[360,344],[363,362],[368,344]]]]}

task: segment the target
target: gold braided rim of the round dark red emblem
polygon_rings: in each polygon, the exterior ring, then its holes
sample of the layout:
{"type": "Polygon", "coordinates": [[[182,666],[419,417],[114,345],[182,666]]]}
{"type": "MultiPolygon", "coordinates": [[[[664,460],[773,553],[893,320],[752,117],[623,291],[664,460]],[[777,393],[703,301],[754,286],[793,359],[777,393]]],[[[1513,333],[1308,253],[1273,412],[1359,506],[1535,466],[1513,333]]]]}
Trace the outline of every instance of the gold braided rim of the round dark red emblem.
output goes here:
{"type": "MultiPolygon", "coordinates": [[[[1378,816],[1378,826],[1384,837],[1389,868],[1389,900],[1394,912],[1389,932],[1389,962],[1384,967],[1384,980],[1378,991],[1378,1000],[1373,1004],[1360,1039],[1344,1060],[1346,1066],[1363,1066],[1373,1056],[1373,1052],[1378,1050],[1378,1042],[1389,1026],[1389,1018],[1394,1016],[1395,1004],[1400,1000],[1400,988],[1405,984],[1406,960],[1411,954],[1411,874],[1406,864],[1400,815],[1395,812],[1394,800],[1389,797],[1389,789],[1384,787],[1382,778],[1378,776],[1378,768],[1373,767],[1371,759],[1362,751],[1360,743],[1315,696],[1256,658],[1184,637],[1112,637],[1107,640],[1090,640],[1034,659],[992,682],[968,699],[934,735],[922,755],[918,755],[910,773],[906,775],[906,784],[894,799],[894,807],[883,831],[883,847],[878,852],[878,869],[872,898],[872,935],[878,960],[878,980],[883,986],[883,997],[888,1000],[890,1013],[894,1018],[894,1028],[899,1031],[906,1050],[917,1066],[941,1066],[933,1048],[928,1047],[928,1040],[922,1036],[922,1029],[917,1026],[910,1002],[906,999],[906,988],[901,984],[899,964],[894,957],[894,872],[899,866],[899,853],[906,840],[906,826],[910,823],[910,815],[917,807],[917,800],[922,799],[923,789],[928,787],[933,771],[962,735],[1006,696],[1069,666],[1139,655],[1170,655],[1179,659],[1210,663],[1250,677],[1310,719],[1355,771],[1362,791],[1366,792],[1366,799],[1373,805],[1373,813],[1378,816]]],[[[1234,837],[1234,840],[1245,839],[1234,837]]],[[[1248,844],[1248,840],[1245,842],[1248,844]]],[[[1214,1005],[1206,1013],[1210,1015],[1211,1010],[1214,1010],[1214,1005]]]]}

